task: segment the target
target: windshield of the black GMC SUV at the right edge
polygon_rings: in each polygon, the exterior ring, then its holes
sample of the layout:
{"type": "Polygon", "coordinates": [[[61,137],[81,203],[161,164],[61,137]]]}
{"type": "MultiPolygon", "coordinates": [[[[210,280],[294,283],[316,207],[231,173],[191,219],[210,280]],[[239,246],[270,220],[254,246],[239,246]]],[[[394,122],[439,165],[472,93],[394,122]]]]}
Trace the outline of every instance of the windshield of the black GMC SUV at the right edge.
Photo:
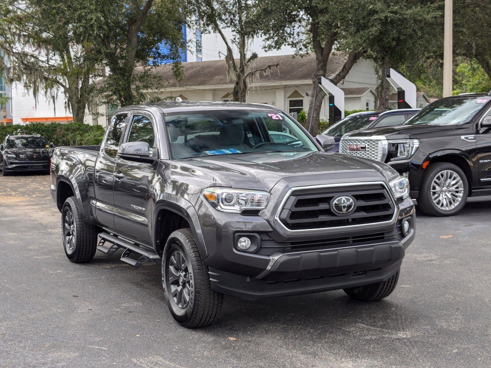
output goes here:
{"type": "Polygon", "coordinates": [[[491,97],[462,97],[448,100],[438,100],[424,107],[411,117],[405,125],[457,125],[464,124],[486,104],[491,97]]]}

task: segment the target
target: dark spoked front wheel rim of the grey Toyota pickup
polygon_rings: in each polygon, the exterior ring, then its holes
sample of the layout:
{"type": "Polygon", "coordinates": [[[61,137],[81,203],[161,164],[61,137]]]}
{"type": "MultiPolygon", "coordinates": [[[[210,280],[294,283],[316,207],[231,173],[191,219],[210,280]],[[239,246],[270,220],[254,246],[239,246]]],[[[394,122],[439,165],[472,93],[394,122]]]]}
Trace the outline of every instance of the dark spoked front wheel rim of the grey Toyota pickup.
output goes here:
{"type": "Polygon", "coordinates": [[[186,258],[178,250],[170,256],[167,277],[174,302],[179,308],[186,308],[191,296],[191,270],[186,258]]]}

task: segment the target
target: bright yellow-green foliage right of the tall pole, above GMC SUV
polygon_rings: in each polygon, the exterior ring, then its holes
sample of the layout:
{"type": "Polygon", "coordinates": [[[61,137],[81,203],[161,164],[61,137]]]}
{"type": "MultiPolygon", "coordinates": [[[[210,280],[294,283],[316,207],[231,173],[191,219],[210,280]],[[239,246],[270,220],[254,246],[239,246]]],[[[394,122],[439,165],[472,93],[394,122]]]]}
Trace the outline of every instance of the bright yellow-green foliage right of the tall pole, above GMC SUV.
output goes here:
{"type": "Polygon", "coordinates": [[[469,92],[489,92],[491,90],[490,77],[476,61],[462,62],[457,65],[455,71],[454,95],[469,92]]]}

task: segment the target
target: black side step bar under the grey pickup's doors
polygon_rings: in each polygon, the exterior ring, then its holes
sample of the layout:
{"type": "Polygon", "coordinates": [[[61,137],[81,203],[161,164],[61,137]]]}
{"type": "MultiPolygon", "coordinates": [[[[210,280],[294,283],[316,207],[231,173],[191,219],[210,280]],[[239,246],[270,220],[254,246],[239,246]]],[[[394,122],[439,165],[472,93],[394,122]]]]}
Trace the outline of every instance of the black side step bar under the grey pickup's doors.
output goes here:
{"type": "Polygon", "coordinates": [[[99,245],[97,245],[97,250],[106,253],[108,256],[112,256],[119,248],[123,248],[125,251],[121,255],[121,261],[135,268],[140,268],[143,264],[150,261],[156,264],[161,263],[161,258],[157,253],[140,247],[135,243],[107,232],[100,233],[99,237],[101,240],[99,241],[99,245]],[[107,246],[106,243],[110,243],[110,245],[107,246]],[[137,258],[130,257],[131,255],[136,255],[137,258]]]}

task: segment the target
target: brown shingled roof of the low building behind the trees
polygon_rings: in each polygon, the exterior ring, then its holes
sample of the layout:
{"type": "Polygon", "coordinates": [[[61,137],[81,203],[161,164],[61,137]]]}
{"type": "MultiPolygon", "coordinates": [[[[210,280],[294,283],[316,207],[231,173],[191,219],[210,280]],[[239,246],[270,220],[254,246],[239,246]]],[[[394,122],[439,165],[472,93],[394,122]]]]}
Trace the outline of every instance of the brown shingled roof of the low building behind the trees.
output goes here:
{"type": "MultiPolygon", "coordinates": [[[[268,74],[260,73],[260,82],[281,82],[286,80],[311,80],[315,74],[315,54],[311,53],[300,57],[294,55],[262,56],[255,61],[255,69],[266,68],[268,65],[279,63],[277,70],[268,74]]],[[[344,63],[346,55],[337,53],[331,55],[327,63],[327,77],[337,74],[344,63]]],[[[167,87],[192,87],[202,85],[231,84],[233,81],[227,79],[227,66],[225,60],[193,61],[183,63],[184,78],[176,81],[172,75],[172,65],[158,66],[155,70],[157,75],[164,79],[167,87]]]]}

